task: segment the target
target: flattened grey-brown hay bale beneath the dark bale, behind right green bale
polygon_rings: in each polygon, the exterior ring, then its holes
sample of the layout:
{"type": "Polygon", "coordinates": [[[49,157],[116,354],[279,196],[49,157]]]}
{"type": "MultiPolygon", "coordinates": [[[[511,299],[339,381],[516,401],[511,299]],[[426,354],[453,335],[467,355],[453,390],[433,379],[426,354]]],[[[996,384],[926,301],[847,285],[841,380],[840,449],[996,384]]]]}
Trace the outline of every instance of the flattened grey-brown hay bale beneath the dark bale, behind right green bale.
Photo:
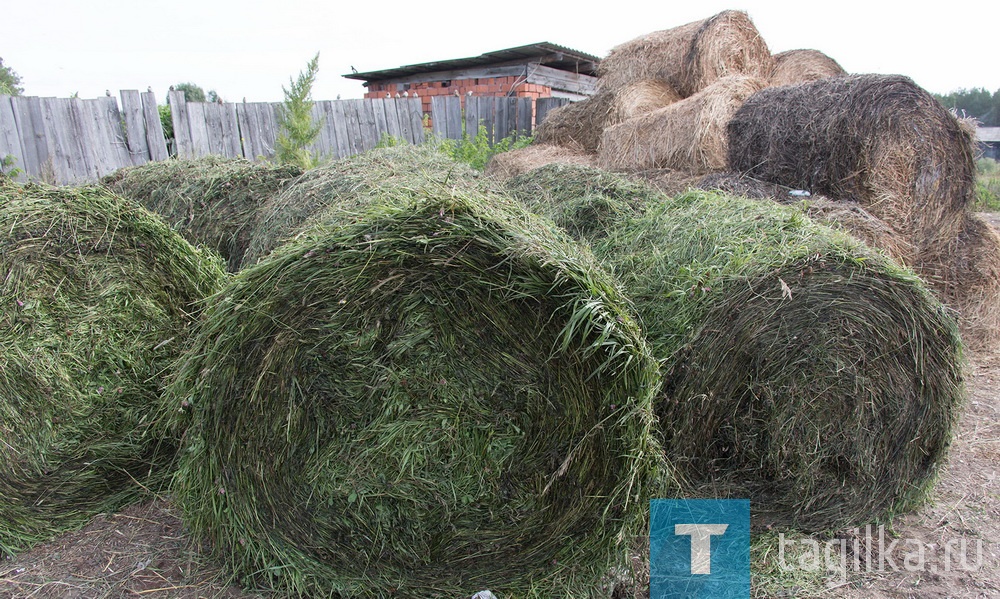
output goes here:
{"type": "Polygon", "coordinates": [[[911,243],[856,202],[838,202],[822,195],[804,198],[792,193],[797,190],[744,177],[739,173],[708,175],[698,183],[698,187],[756,200],[769,199],[782,204],[795,204],[809,218],[842,229],[869,247],[884,251],[905,266],[911,265],[916,255],[916,248],[911,243]]]}

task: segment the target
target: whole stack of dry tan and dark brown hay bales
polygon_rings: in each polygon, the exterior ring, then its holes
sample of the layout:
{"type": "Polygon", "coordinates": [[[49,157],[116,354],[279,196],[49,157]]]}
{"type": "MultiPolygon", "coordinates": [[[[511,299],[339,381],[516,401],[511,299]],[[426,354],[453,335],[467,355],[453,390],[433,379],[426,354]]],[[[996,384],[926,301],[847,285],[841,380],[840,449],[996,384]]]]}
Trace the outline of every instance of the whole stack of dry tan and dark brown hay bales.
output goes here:
{"type": "Polygon", "coordinates": [[[802,190],[811,216],[914,268],[968,345],[1000,340],[1000,238],[970,211],[972,132],[911,80],[849,76],[816,50],[772,55],[725,11],[615,47],[598,84],[549,114],[530,161],[511,152],[488,172],[589,162],[671,193],[792,203],[802,190]]]}

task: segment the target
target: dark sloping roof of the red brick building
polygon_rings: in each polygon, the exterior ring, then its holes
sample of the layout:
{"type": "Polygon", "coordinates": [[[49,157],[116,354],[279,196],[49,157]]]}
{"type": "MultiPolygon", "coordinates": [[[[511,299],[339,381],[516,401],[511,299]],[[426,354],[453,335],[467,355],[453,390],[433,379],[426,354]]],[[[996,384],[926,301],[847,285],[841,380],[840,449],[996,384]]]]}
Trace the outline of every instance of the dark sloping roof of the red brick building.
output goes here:
{"type": "Polygon", "coordinates": [[[527,46],[486,52],[479,56],[470,56],[469,58],[453,58],[451,60],[405,65],[394,69],[348,73],[344,77],[348,79],[360,79],[362,81],[383,81],[385,79],[398,79],[400,77],[433,73],[436,71],[455,71],[470,67],[517,62],[540,62],[554,69],[596,76],[597,63],[600,61],[600,58],[592,54],[586,54],[558,44],[539,42],[537,44],[528,44],[527,46]],[[533,59],[541,60],[535,61],[533,59]]]}

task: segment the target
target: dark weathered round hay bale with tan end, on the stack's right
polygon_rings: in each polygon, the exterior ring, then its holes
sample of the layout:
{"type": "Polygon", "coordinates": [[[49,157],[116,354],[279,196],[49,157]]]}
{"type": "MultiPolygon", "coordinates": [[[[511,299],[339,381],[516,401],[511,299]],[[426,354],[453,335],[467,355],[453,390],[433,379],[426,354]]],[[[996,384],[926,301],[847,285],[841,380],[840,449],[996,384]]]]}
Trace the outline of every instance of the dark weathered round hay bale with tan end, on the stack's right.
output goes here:
{"type": "Polygon", "coordinates": [[[961,229],[974,156],[968,128],[896,75],[767,88],[729,123],[730,170],[855,201],[918,252],[961,229]]]}

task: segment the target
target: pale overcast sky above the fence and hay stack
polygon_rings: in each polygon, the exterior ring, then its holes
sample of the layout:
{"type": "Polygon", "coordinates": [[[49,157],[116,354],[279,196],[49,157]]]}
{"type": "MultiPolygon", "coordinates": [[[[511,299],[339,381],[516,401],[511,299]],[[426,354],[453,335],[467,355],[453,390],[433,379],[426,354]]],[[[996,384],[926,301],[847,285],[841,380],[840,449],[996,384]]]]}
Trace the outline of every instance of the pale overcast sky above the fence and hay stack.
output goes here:
{"type": "Polygon", "coordinates": [[[372,71],[548,41],[604,56],[636,36],[745,10],[772,52],[814,48],[851,73],[929,91],[1000,89],[1000,0],[910,2],[396,2],[25,0],[0,9],[0,58],[26,95],[145,91],[194,82],[227,101],[276,101],[320,53],[313,99],[360,98],[372,71]]]}

